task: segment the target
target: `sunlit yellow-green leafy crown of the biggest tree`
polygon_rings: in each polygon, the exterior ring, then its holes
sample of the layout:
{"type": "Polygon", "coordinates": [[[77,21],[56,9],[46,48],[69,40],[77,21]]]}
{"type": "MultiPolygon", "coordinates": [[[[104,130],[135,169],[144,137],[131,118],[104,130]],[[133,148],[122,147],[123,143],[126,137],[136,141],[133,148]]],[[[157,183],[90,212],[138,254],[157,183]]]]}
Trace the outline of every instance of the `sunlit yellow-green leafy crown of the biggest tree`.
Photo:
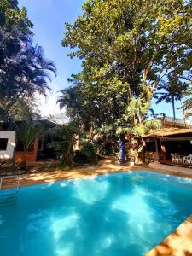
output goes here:
{"type": "Polygon", "coordinates": [[[63,45],[77,49],[70,55],[84,59],[90,82],[108,84],[108,77],[115,77],[127,83],[128,98],[142,93],[143,82],[153,95],[161,74],[173,72],[178,57],[189,59],[191,46],[183,43],[190,40],[190,6],[184,1],[95,0],[85,2],[83,10],[67,24],[63,45]]]}

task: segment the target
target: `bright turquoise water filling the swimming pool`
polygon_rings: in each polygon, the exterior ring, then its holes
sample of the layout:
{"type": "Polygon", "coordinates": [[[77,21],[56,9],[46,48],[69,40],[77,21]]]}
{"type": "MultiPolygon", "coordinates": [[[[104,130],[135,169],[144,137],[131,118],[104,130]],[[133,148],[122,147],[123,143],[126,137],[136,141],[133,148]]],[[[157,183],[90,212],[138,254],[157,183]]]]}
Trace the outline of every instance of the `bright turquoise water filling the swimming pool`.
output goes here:
{"type": "Polygon", "coordinates": [[[40,184],[0,207],[1,256],[140,256],[192,213],[192,181],[124,172],[40,184]]]}

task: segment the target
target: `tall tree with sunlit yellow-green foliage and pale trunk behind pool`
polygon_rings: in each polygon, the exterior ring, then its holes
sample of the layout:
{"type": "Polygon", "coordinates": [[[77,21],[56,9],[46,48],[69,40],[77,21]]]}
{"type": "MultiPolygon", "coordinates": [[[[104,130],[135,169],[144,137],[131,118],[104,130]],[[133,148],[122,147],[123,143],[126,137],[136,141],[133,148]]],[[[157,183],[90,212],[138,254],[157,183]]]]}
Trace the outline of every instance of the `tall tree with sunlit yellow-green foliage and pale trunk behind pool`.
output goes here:
{"type": "Polygon", "coordinates": [[[84,109],[98,109],[90,113],[90,122],[104,119],[96,127],[133,127],[134,119],[143,124],[146,113],[127,116],[133,98],[150,108],[162,79],[182,84],[191,78],[191,5],[184,0],[89,0],[83,15],[66,24],[62,44],[73,49],[70,57],[82,59],[77,78],[84,109]]]}

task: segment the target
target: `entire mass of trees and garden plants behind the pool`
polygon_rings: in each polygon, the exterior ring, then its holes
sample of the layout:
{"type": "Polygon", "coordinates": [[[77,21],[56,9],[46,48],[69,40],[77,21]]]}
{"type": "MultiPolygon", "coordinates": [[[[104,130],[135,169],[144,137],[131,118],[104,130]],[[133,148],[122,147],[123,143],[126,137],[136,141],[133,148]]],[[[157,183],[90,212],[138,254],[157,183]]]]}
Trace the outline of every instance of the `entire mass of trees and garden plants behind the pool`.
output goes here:
{"type": "Polygon", "coordinates": [[[182,1],[85,2],[62,41],[75,49],[68,55],[82,60],[82,70],[58,96],[66,115],[61,120],[43,117],[36,100],[51,90],[55,63],[33,44],[26,9],[3,0],[0,127],[15,131],[15,151],[22,152],[15,165],[25,168],[35,143],[33,161],[54,159],[63,167],[96,164],[98,155],[145,162],[143,136],[161,125],[153,99],[172,102],[174,119],[175,102],[183,99],[183,111],[191,108],[190,14],[190,3],[182,1]]]}

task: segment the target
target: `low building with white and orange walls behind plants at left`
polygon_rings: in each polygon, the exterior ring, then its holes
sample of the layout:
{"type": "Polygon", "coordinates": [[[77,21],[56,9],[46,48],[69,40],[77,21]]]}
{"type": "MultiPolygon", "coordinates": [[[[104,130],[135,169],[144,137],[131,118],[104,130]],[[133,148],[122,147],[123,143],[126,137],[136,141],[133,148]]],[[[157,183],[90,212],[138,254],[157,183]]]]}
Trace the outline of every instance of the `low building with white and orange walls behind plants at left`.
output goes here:
{"type": "MultiPolygon", "coordinates": [[[[44,131],[55,127],[55,123],[49,120],[37,120],[36,123],[40,127],[44,127],[44,131]]],[[[24,159],[26,164],[31,164],[37,160],[54,158],[55,154],[52,148],[48,147],[48,143],[51,141],[49,136],[46,137],[34,137],[30,148],[25,150],[24,143],[17,136],[17,131],[22,131],[22,127],[25,125],[25,121],[15,122],[13,131],[8,131],[9,125],[3,123],[2,131],[0,131],[0,160],[10,161],[14,160],[15,163],[20,163],[24,159]]]]}

